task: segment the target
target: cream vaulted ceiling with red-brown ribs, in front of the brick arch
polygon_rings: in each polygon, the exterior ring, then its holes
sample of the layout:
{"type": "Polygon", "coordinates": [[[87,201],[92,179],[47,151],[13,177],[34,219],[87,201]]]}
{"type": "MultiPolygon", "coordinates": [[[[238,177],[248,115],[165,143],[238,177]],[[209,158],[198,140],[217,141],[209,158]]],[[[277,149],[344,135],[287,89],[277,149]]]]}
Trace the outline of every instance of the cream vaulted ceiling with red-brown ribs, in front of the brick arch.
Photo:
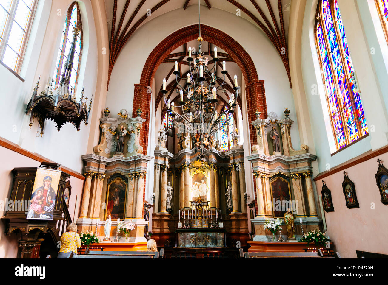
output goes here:
{"type": "MultiPolygon", "coordinates": [[[[291,86],[286,43],[290,3],[291,0],[200,0],[201,9],[221,9],[233,14],[239,9],[241,17],[257,26],[258,32],[265,33],[282,59],[291,86]]],[[[137,28],[159,15],[190,5],[198,5],[198,1],[105,0],[110,32],[109,78],[123,46],[137,28]]]]}

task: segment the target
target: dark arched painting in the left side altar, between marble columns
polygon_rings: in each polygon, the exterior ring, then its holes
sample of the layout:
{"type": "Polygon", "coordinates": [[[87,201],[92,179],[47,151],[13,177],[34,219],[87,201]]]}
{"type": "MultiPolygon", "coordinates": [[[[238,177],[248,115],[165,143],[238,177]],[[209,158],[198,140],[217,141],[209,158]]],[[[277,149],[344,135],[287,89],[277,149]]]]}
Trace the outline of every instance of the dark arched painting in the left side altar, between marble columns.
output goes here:
{"type": "Polygon", "coordinates": [[[112,220],[125,218],[127,181],[121,173],[114,173],[107,179],[105,220],[109,215],[112,220]]]}

